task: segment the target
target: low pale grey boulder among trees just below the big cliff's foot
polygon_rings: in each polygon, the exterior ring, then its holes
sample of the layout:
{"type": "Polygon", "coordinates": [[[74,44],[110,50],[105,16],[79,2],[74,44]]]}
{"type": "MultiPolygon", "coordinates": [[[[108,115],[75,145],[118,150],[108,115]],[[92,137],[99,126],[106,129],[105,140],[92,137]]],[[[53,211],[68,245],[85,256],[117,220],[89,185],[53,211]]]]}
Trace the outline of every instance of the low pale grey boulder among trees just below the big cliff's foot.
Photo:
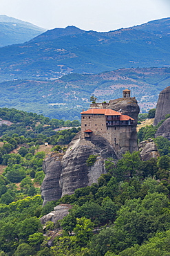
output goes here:
{"type": "Polygon", "coordinates": [[[41,217],[40,221],[42,225],[45,225],[47,221],[52,221],[56,223],[60,219],[63,219],[69,213],[69,210],[72,209],[72,205],[70,204],[60,204],[54,207],[54,211],[44,215],[41,217]]]}

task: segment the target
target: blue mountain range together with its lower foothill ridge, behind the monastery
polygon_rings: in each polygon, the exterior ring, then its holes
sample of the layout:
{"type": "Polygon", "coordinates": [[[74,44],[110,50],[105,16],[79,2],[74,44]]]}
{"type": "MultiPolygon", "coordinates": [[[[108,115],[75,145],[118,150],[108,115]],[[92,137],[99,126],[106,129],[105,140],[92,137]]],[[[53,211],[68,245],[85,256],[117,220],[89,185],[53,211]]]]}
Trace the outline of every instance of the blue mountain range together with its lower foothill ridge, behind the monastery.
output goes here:
{"type": "MultiPolygon", "coordinates": [[[[0,22],[1,24],[1,22],[0,22]]],[[[78,119],[99,102],[131,89],[142,111],[170,84],[170,18],[107,33],[55,28],[0,48],[0,107],[78,119]]]]}

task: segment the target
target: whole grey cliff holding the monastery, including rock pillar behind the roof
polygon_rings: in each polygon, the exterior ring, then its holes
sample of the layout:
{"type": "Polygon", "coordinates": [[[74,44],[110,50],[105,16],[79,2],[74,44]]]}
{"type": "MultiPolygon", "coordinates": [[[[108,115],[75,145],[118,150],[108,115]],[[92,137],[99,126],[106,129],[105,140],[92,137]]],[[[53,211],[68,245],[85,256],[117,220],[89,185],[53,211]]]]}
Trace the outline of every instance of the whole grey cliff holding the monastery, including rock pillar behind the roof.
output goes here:
{"type": "Polygon", "coordinates": [[[41,186],[43,205],[47,201],[60,199],[65,194],[73,194],[77,188],[96,183],[101,174],[105,173],[105,159],[114,158],[118,160],[126,151],[138,151],[136,125],[139,107],[135,98],[120,98],[111,100],[109,109],[121,111],[123,114],[134,118],[132,127],[120,132],[120,145],[111,146],[106,138],[93,135],[91,141],[81,139],[78,133],[63,156],[53,154],[45,159],[43,170],[45,179],[41,186]],[[89,155],[97,155],[96,162],[87,166],[89,155]]]}

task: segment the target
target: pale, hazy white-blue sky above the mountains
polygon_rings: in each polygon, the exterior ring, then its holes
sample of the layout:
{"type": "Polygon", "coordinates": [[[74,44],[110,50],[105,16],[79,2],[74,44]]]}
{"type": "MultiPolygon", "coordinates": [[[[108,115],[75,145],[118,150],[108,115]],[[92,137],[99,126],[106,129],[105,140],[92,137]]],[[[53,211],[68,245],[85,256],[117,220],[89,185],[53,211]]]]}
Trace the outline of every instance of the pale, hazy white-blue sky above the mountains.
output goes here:
{"type": "Polygon", "coordinates": [[[170,0],[0,0],[0,15],[46,29],[109,31],[170,17],[170,0]]]}

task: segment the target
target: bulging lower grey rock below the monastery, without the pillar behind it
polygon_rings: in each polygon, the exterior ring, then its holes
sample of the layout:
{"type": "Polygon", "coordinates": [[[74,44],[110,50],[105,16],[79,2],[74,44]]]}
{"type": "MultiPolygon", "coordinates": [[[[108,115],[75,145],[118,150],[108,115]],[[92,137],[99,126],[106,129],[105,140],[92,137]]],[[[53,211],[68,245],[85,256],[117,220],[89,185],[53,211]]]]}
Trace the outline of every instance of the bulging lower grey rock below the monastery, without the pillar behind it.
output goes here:
{"type": "Polygon", "coordinates": [[[93,136],[91,142],[82,142],[77,134],[63,157],[59,154],[49,156],[43,163],[43,205],[47,201],[60,199],[65,194],[73,194],[77,188],[96,183],[100,175],[105,173],[104,161],[107,157],[118,159],[105,138],[93,136]],[[94,165],[87,166],[86,161],[91,154],[97,155],[97,159],[94,165]]]}

